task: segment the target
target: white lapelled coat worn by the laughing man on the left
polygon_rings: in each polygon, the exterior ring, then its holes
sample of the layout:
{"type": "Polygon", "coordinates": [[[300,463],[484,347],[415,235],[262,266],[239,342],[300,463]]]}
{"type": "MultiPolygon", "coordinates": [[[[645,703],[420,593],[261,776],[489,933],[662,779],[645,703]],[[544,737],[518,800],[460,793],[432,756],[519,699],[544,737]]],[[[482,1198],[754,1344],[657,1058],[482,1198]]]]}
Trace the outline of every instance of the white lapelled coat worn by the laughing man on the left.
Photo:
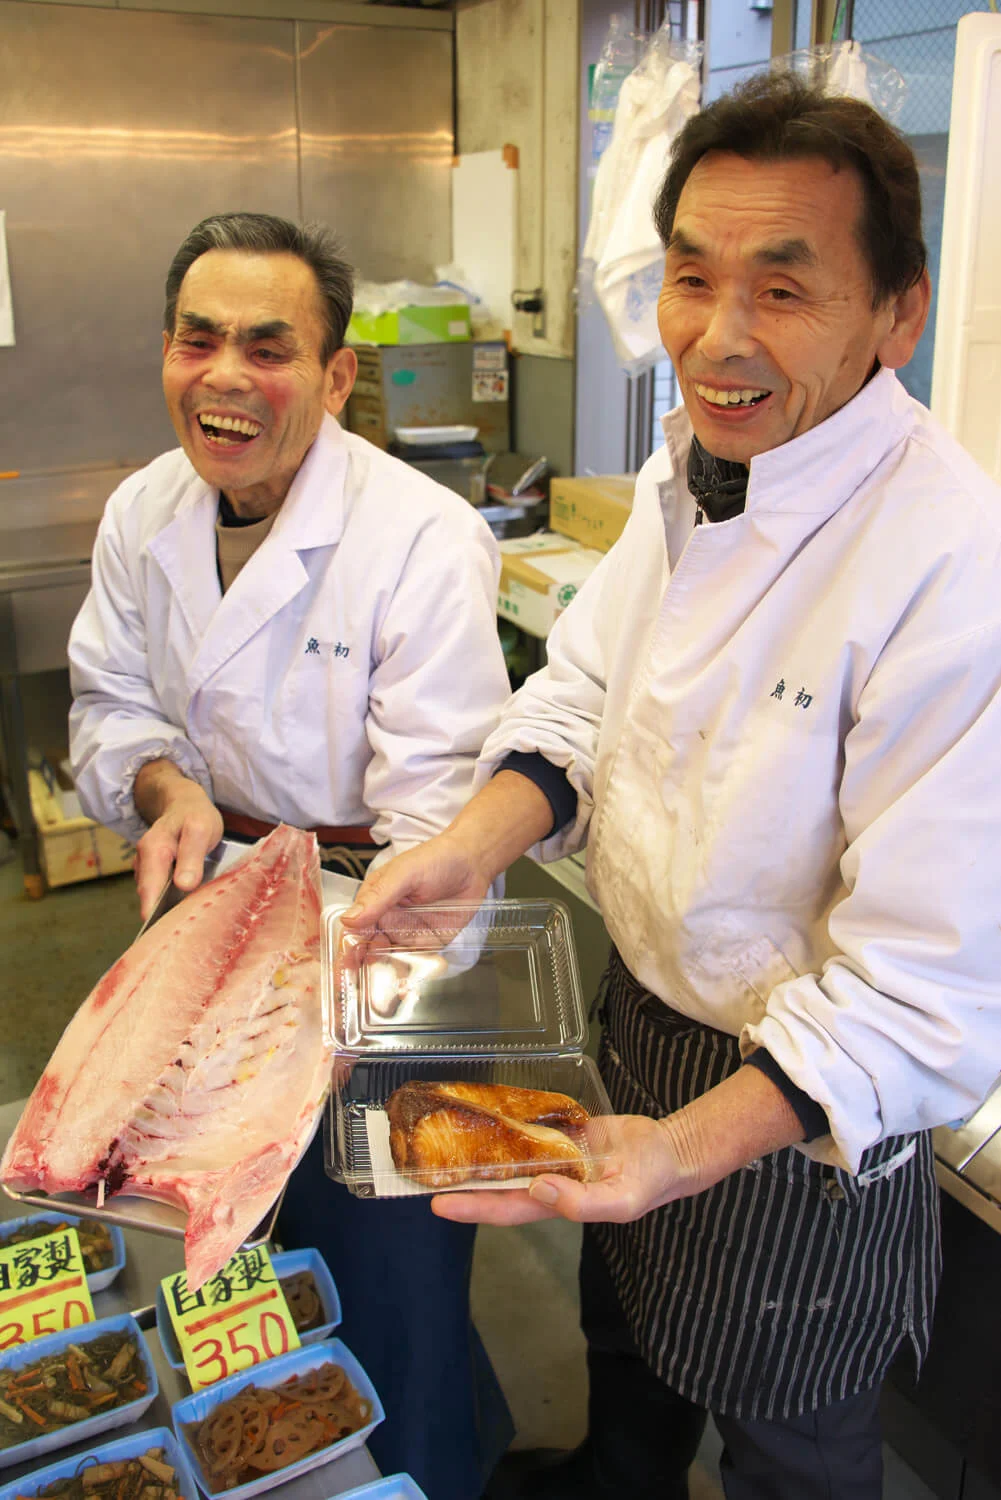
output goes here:
{"type": "Polygon", "coordinates": [[[392,852],[438,832],[509,693],[483,519],[329,416],[225,596],[218,502],[182,450],[108,501],[69,639],[84,808],[140,838],[165,756],[234,812],[392,852]]]}

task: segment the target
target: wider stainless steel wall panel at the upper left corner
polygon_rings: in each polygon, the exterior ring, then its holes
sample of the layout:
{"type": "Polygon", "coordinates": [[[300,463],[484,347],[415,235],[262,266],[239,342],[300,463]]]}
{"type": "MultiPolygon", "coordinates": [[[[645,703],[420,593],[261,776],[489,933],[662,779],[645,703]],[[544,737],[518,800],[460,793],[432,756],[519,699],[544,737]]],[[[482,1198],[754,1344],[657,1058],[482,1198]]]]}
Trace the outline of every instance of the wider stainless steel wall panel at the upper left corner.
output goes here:
{"type": "Polygon", "coordinates": [[[294,22],[0,0],[0,34],[18,340],[0,470],[135,466],[176,442],[159,360],[179,242],[218,210],[299,216],[294,22]]]}

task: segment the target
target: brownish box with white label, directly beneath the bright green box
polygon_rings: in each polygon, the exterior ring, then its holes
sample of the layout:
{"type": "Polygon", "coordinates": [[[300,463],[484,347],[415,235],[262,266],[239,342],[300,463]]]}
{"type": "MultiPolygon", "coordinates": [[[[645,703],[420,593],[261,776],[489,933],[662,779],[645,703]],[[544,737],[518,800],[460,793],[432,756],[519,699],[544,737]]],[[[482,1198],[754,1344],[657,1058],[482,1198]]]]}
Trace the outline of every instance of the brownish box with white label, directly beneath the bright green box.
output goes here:
{"type": "Polygon", "coordinates": [[[351,432],[387,448],[396,428],[477,428],[486,453],[510,448],[507,346],[495,339],[356,350],[351,432]]]}

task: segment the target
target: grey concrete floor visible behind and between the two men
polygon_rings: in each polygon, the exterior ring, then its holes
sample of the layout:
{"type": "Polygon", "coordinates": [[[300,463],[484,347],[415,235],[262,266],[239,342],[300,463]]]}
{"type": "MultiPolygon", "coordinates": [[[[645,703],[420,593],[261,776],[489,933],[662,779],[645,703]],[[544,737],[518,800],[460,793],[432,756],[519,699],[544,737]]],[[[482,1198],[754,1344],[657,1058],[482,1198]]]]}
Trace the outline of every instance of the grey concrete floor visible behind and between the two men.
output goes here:
{"type": "MultiPolygon", "coordinates": [[[[3,849],[0,849],[0,856],[3,849]]],[[[512,891],[537,882],[521,872],[512,891]]],[[[575,903],[569,902],[572,908],[575,903]]],[[[578,903],[579,904],[579,903],[578,903]]],[[[603,945],[582,928],[582,980],[590,990],[603,945]]],[[[51,891],[30,902],[17,850],[0,864],[0,1104],[27,1095],[63,1026],[140,926],[131,876],[51,891]]],[[[518,1428],[518,1448],[572,1448],[584,1436],[584,1340],[578,1330],[579,1230],[563,1222],[480,1230],[473,1310],[518,1428]]],[[[719,1438],[711,1425],[692,1470],[692,1500],[722,1500],[719,1438]]],[[[884,1500],[933,1500],[888,1448],[884,1500]]]]}

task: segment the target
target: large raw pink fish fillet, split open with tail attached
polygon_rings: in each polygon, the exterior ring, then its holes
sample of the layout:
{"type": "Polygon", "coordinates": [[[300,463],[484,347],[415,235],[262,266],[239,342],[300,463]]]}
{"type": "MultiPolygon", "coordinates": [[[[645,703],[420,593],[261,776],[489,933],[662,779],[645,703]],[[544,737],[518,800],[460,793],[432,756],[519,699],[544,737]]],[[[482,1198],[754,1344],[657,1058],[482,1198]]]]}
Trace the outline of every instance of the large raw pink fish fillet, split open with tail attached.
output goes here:
{"type": "Polygon", "coordinates": [[[143,933],[63,1032],[0,1161],[21,1191],[188,1212],[194,1288],[252,1233],[305,1150],[332,1068],[320,858],[281,826],[143,933]]]}

